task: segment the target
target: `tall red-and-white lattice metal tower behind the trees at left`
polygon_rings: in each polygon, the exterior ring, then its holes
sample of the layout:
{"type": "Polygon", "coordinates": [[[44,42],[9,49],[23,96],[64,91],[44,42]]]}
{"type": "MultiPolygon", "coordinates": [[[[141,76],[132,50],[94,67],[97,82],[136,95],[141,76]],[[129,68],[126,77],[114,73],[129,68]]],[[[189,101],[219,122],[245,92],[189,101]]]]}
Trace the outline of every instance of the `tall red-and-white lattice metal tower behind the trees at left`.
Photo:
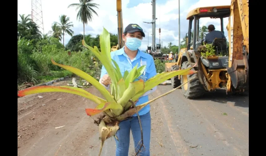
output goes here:
{"type": "Polygon", "coordinates": [[[35,22],[38,27],[43,30],[43,11],[41,0],[31,0],[31,20],[35,22]]]}

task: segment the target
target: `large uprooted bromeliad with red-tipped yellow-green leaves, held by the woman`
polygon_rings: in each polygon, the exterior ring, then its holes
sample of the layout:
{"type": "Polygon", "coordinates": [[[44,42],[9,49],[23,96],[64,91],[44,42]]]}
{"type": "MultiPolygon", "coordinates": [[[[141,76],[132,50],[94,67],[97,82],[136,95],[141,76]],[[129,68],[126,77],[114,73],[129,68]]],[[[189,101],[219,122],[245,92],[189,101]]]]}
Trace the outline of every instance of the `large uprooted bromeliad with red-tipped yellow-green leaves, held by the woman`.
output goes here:
{"type": "MultiPolygon", "coordinates": [[[[100,35],[101,52],[96,46],[94,46],[94,48],[88,46],[84,40],[82,41],[82,43],[101,61],[103,66],[105,66],[106,71],[112,81],[110,85],[111,92],[106,90],[105,87],[101,85],[97,80],[95,80],[92,76],[79,69],[76,69],[71,66],[58,64],[53,60],[52,63],[68,71],[71,71],[74,74],[80,76],[81,78],[87,80],[90,84],[92,84],[96,89],[101,92],[105,99],[92,95],[83,89],[70,86],[35,86],[25,90],[20,90],[18,92],[18,96],[22,97],[29,94],[43,92],[65,92],[80,95],[95,102],[97,104],[95,108],[87,108],[85,109],[85,111],[89,116],[94,116],[99,113],[104,114],[98,121],[95,121],[95,123],[99,127],[99,135],[101,139],[100,153],[104,141],[110,138],[111,136],[116,137],[115,133],[119,129],[118,124],[121,120],[124,120],[134,115],[135,113],[137,113],[138,115],[139,110],[141,110],[143,107],[155,100],[153,99],[144,104],[135,106],[134,102],[136,102],[136,100],[138,100],[145,92],[151,90],[156,85],[159,85],[161,82],[168,80],[176,75],[190,75],[195,73],[195,71],[190,70],[191,68],[185,70],[171,71],[157,74],[156,76],[144,82],[144,80],[140,79],[140,77],[144,72],[146,65],[140,66],[139,68],[137,68],[138,65],[136,65],[131,71],[125,71],[124,75],[122,76],[119,66],[114,60],[111,59],[110,34],[105,28],[102,34],[100,35]]],[[[161,95],[160,97],[164,95],[161,95]]],[[[160,97],[157,97],[156,99],[160,97]]],[[[140,121],[139,115],[138,119],[140,121]]],[[[117,137],[116,139],[119,140],[119,138],[117,137]]],[[[142,146],[143,139],[141,140],[141,142],[142,146]]],[[[140,152],[140,150],[138,152],[140,152]]]]}

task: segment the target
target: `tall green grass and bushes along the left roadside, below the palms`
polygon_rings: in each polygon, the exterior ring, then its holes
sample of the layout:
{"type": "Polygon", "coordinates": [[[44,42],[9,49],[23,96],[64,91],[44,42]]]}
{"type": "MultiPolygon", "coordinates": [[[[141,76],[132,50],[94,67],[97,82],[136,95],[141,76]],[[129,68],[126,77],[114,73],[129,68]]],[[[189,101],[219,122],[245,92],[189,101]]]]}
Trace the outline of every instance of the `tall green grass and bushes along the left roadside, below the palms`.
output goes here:
{"type": "Polygon", "coordinates": [[[60,46],[52,37],[39,41],[36,48],[33,48],[30,41],[24,38],[20,39],[18,41],[18,84],[25,81],[37,84],[73,75],[73,73],[53,65],[52,58],[57,63],[73,66],[99,79],[102,65],[98,62],[94,63],[91,56],[92,53],[87,49],[81,52],[72,52],[69,56],[63,46],[60,46]],[[54,43],[52,44],[51,41],[54,43]]]}

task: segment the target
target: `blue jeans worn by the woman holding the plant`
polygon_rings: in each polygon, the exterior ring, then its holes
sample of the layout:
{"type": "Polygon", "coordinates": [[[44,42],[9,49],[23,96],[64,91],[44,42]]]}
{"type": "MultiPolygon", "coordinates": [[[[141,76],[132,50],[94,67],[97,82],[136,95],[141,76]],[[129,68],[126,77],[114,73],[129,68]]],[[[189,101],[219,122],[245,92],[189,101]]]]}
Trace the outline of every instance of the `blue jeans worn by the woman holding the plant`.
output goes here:
{"type": "MultiPolygon", "coordinates": [[[[143,132],[143,146],[141,147],[140,156],[150,156],[150,140],[151,140],[151,114],[148,112],[141,115],[141,126],[143,132]]],[[[141,144],[141,129],[137,116],[132,116],[129,119],[123,120],[119,124],[120,129],[117,131],[115,139],[116,143],[116,156],[128,156],[129,142],[130,142],[130,129],[135,144],[135,152],[138,152],[141,144]]]]}

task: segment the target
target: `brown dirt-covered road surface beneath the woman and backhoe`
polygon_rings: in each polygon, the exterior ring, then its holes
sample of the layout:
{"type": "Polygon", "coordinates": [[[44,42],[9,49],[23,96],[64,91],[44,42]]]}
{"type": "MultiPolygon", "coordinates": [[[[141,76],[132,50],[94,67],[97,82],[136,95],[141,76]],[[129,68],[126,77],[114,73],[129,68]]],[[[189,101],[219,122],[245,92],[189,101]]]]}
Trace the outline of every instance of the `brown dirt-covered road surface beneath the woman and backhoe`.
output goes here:
{"type": "MultiPolygon", "coordinates": [[[[62,81],[56,85],[66,84],[62,81]]],[[[170,85],[158,86],[150,99],[171,89],[170,85]]],[[[100,96],[93,87],[85,90],[100,96]]],[[[98,129],[84,110],[94,106],[83,97],[67,93],[19,98],[18,156],[98,156],[98,129]],[[60,126],[65,127],[55,129],[60,126]]],[[[156,100],[151,104],[151,156],[248,155],[248,107],[248,96],[224,92],[187,100],[181,90],[176,90],[156,100]]],[[[129,155],[133,151],[131,137],[129,155]]],[[[111,138],[105,142],[102,156],[113,155],[115,140],[111,138]]]]}

